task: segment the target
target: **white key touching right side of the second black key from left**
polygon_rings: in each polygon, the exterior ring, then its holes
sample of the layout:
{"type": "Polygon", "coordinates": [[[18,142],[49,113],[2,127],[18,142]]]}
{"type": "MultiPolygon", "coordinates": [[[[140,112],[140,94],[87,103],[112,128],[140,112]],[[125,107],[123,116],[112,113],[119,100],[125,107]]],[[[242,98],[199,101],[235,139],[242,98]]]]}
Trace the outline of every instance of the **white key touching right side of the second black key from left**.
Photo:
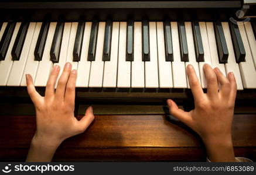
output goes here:
{"type": "Polygon", "coordinates": [[[31,45],[35,27],[35,22],[29,24],[28,33],[26,34],[25,42],[22,48],[21,58],[19,59],[19,61],[13,61],[11,73],[7,82],[8,86],[19,86],[21,84],[21,78],[28,58],[29,48],[31,45]]]}

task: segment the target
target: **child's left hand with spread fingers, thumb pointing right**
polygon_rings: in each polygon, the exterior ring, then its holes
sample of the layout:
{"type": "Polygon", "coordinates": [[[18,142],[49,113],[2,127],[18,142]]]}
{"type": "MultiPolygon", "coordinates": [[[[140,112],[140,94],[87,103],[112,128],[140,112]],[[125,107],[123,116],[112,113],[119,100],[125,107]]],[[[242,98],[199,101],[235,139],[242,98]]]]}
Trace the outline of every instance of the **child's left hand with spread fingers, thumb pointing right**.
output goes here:
{"type": "Polygon", "coordinates": [[[32,139],[28,161],[51,160],[64,139],[84,132],[94,120],[91,107],[80,121],[74,117],[77,71],[71,71],[71,64],[66,63],[55,92],[54,85],[59,72],[60,67],[54,66],[47,81],[45,97],[36,92],[32,77],[26,75],[28,93],[36,108],[36,133],[32,139]],[[49,156],[45,157],[47,152],[44,153],[44,149],[52,150],[49,156]],[[42,151],[42,154],[37,150],[42,151]]]}

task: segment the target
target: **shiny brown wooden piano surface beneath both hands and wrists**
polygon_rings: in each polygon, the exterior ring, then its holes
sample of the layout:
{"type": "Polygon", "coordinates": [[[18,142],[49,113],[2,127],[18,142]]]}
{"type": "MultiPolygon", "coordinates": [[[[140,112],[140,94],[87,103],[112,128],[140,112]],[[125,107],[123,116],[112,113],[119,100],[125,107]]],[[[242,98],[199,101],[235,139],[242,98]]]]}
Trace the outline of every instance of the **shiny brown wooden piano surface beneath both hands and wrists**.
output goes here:
{"type": "MultiPolygon", "coordinates": [[[[86,132],[60,145],[53,161],[205,161],[198,136],[166,119],[95,115],[86,132]]],[[[35,129],[33,115],[0,116],[0,161],[24,161],[35,129]]],[[[256,114],[235,114],[233,143],[236,156],[256,161],[256,114]]]]}

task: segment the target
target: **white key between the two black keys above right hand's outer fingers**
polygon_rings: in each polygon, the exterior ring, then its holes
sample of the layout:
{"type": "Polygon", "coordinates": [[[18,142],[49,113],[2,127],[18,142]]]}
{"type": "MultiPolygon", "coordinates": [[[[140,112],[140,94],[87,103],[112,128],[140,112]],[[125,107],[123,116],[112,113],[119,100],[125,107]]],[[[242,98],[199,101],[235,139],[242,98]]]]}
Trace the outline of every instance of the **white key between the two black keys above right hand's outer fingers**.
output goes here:
{"type": "Polygon", "coordinates": [[[221,24],[223,27],[223,32],[226,38],[227,49],[228,49],[228,59],[227,59],[227,63],[225,64],[226,75],[228,75],[228,72],[233,72],[235,76],[235,81],[237,82],[237,89],[243,90],[244,88],[243,88],[243,83],[240,75],[239,66],[235,61],[235,53],[233,49],[233,43],[231,39],[228,22],[221,22],[221,24]]]}

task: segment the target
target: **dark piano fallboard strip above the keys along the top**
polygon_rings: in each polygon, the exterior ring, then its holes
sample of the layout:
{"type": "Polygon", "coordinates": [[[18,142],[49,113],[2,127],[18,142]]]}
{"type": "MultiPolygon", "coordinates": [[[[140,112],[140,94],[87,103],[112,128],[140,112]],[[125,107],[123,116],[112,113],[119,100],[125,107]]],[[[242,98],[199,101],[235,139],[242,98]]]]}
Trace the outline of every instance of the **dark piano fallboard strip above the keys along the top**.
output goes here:
{"type": "Polygon", "coordinates": [[[0,20],[227,20],[241,1],[0,1],[0,20]]]}

